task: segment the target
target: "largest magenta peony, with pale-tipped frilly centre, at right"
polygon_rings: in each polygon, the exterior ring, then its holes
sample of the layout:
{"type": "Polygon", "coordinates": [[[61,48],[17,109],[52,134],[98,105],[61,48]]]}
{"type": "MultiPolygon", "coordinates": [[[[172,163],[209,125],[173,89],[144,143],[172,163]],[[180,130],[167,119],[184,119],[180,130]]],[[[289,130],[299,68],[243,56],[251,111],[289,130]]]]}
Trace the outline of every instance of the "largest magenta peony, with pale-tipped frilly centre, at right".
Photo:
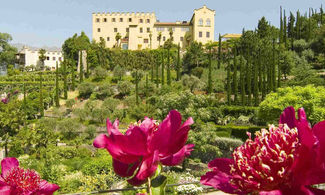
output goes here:
{"type": "Polygon", "coordinates": [[[231,194],[325,194],[325,121],[310,127],[303,109],[288,107],[279,127],[262,129],[233,153],[215,159],[201,183],[231,194]]]}

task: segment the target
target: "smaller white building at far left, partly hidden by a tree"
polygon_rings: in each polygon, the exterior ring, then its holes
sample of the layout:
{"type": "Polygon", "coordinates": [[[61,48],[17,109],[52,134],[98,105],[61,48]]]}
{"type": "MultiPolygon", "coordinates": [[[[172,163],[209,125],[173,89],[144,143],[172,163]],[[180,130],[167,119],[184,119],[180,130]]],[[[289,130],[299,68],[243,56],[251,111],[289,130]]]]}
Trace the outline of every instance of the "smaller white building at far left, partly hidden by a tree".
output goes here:
{"type": "MultiPolygon", "coordinates": [[[[31,49],[24,46],[17,53],[17,63],[19,66],[27,67],[27,66],[37,66],[39,62],[39,49],[31,49]]],[[[63,54],[61,51],[46,51],[45,53],[46,60],[44,61],[45,68],[49,68],[50,70],[55,70],[56,63],[60,66],[63,61],[63,54]]]]}

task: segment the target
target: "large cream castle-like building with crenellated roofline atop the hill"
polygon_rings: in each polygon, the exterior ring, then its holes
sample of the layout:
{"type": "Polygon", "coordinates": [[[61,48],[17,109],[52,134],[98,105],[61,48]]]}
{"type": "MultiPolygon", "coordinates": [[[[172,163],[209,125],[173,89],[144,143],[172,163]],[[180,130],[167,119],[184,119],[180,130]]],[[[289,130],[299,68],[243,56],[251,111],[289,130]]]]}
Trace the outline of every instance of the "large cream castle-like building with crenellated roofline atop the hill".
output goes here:
{"type": "Polygon", "coordinates": [[[215,11],[206,6],[195,9],[190,21],[182,22],[160,22],[155,13],[93,13],[92,34],[97,42],[104,39],[106,47],[118,45],[123,49],[139,50],[158,48],[173,31],[173,43],[185,47],[191,41],[203,44],[214,41],[214,17],[215,11]],[[118,33],[121,40],[117,43],[118,33]]]}

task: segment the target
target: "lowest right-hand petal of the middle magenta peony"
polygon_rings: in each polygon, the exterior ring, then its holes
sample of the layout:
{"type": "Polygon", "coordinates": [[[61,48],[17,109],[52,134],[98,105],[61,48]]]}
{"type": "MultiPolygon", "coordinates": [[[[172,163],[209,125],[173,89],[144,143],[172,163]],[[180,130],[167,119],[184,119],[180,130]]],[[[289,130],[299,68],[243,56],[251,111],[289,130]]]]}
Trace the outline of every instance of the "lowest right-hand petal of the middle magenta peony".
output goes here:
{"type": "Polygon", "coordinates": [[[191,151],[193,151],[194,144],[188,144],[185,145],[181,150],[179,150],[177,153],[166,156],[164,158],[160,159],[160,162],[163,165],[166,166],[175,166],[179,165],[183,162],[185,157],[189,156],[191,154],[191,151]]]}

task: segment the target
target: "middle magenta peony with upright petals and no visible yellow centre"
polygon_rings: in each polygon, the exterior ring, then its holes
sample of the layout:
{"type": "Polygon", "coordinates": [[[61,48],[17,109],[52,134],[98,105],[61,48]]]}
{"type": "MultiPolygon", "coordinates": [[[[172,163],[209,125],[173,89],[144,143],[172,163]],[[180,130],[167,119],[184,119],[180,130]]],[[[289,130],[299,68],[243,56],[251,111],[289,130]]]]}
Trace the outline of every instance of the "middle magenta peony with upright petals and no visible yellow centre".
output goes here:
{"type": "Polygon", "coordinates": [[[159,163],[175,166],[190,155],[194,145],[185,143],[193,120],[181,122],[180,113],[172,110],[160,125],[146,117],[122,134],[118,120],[113,125],[107,120],[108,136],[97,136],[94,146],[106,148],[112,155],[116,174],[129,177],[131,185],[141,185],[154,175],[159,163]]]}

